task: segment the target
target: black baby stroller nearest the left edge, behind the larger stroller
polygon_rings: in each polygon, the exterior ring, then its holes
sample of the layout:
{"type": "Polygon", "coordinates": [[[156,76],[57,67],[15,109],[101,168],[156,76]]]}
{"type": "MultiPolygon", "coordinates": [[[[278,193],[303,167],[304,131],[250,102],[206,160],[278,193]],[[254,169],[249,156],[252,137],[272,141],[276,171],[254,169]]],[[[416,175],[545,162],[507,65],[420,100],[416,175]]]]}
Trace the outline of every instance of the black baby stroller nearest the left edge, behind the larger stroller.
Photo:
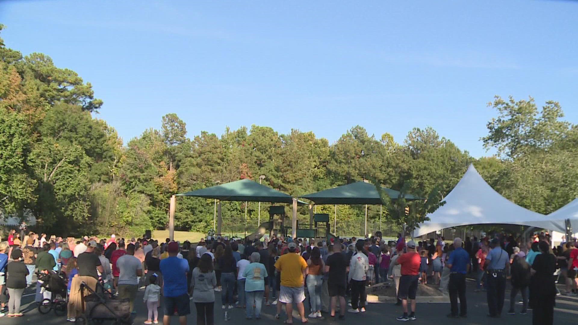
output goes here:
{"type": "Polygon", "coordinates": [[[47,314],[52,309],[56,316],[66,314],[66,277],[64,274],[50,271],[46,274],[40,274],[39,280],[42,283],[42,290],[50,292],[50,299],[45,298],[38,305],[38,312],[47,314]]]}

